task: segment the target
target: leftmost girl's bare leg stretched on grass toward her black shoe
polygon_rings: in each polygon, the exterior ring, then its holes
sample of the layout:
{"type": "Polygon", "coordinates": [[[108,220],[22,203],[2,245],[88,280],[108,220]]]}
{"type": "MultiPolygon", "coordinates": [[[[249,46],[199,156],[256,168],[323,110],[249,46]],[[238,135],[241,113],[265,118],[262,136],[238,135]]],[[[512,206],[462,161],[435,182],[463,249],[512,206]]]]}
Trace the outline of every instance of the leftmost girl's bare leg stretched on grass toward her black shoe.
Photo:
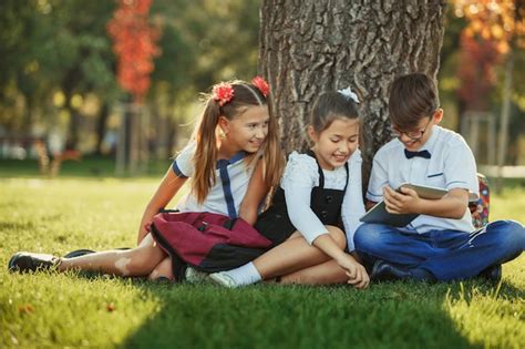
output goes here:
{"type": "Polygon", "coordinates": [[[100,252],[75,258],[63,258],[58,269],[102,271],[119,276],[147,276],[164,259],[166,254],[151,234],[133,249],[100,252]]]}

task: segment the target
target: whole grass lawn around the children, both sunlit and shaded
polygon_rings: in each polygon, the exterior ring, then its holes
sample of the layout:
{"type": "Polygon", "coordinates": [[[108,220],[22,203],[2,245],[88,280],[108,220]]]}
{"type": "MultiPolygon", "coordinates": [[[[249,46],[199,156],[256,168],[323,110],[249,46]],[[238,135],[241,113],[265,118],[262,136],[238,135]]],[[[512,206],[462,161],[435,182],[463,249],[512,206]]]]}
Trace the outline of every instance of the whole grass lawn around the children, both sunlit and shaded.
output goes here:
{"type": "MultiPolygon", "coordinates": [[[[3,168],[1,170],[3,171],[3,168]]],[[[16,250],[133,246],[158,178],[0,179],[0,348],[524,348],[525,257],[481,280],[350,287],[162,285],[6,270],[16,250]]],[[[525,188],[492,198],[525,222],[525,188]]]]}

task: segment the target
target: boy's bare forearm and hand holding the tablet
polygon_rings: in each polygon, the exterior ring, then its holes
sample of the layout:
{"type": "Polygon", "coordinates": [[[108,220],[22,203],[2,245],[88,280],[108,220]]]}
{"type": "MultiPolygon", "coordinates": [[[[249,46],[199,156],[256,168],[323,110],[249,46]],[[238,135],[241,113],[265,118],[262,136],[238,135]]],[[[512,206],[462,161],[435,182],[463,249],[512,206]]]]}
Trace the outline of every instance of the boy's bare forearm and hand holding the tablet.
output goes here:
{"type": "Polygon", "coordinates": [[[442,218],[460,219],[469,205],[469,192],[462,188],[450,189],[440,199],[425,199],[415,191],[401,188],[401,193],[385,186],[383,188],[387,211],[392,214],[422,214],[442,218]]]}

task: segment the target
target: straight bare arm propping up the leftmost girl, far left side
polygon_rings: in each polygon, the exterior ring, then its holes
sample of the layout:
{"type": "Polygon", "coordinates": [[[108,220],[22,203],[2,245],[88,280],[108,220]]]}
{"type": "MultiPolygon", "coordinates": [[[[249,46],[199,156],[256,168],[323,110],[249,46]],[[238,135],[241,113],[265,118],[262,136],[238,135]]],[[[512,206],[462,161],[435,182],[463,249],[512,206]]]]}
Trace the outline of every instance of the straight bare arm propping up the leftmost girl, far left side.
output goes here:
{"type": "Polygon", "coordinates": [[[166,207],[169,201],[175,196],[178,189],[186,182],[186,177],[178,177],[172,170],[168,168],[166,175],[158,185],[155,194],[150,199],[150,203],[144,211],[141,219],[141,226],[138,228],[138,244],[142,242],[144,236],[147,235],[150,230],[150,225],[152,223],[153,216],[155,216],[161,208],[166,207]]]}

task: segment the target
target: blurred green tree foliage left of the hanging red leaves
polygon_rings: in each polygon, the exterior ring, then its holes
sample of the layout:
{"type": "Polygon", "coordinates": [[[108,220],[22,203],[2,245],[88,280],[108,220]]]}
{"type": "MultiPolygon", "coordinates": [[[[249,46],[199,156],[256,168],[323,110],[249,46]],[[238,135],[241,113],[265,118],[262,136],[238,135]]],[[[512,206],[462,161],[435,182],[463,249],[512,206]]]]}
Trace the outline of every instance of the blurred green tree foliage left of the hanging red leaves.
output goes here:
{"type": "Polygon", "coordinates": [[[12,110],[7,113],[10,122],[2,115],[8,130],[29,133],[35,110],[49,107],[53,95],[61,93],[63,103],[56,106],[69,115],[71,146],[75,147],[82,97],[92,92],[104,104],[119,93],[105,33],[113,8],[111,1],[89,0],[1,2],[0,104],[4,107],[21,96],[28,115],[21,117],[12,110]]]}

